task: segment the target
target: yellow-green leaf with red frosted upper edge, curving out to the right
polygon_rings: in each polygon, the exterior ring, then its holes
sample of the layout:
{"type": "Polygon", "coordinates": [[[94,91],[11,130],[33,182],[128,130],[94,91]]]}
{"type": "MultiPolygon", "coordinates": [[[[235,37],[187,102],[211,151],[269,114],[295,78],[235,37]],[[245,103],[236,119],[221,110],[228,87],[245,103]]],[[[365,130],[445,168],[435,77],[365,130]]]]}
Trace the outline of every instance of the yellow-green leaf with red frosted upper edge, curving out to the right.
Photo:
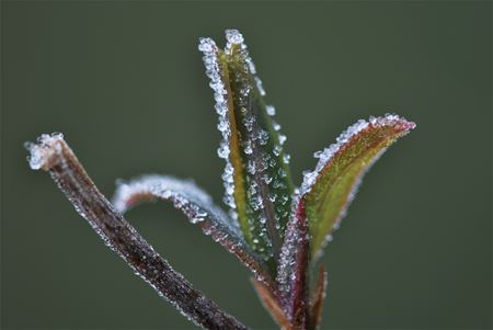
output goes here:
{"type": "Polygon", "coordinates": [[[313,260],[339,227],[363,175],[387,148],[415,124],[398,115],[358,121],[321,152],[313,172],[305,173],[299,204],[305,204],[313,260]]]}

